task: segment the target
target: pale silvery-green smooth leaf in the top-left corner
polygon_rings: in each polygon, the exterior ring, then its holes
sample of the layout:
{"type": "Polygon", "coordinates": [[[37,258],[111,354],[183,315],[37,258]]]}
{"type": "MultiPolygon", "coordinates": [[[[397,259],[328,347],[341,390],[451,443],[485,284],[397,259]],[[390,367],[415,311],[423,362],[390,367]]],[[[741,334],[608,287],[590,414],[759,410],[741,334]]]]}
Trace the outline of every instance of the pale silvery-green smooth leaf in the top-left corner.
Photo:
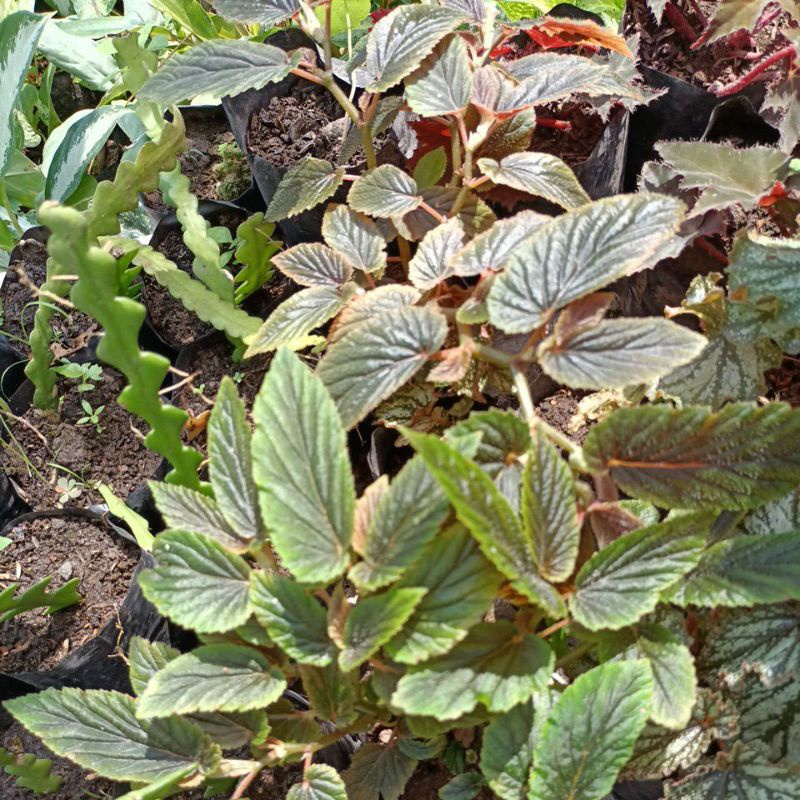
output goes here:
{"type": "Polygon", "coordinates": [[[14,107],[47,17],[16,11],[0,22],[0,178],[14,148],[14,107]]]}

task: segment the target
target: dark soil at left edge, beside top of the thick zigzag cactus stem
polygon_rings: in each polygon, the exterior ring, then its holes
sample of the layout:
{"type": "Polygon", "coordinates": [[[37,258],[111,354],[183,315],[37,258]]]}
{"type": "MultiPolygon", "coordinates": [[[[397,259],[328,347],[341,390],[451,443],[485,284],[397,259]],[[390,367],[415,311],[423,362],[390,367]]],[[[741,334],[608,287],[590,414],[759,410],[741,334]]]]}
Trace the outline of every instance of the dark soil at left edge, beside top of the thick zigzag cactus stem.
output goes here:
{"type": "MultiPolygon", "coordinates": [[[[41,286],[47,271],[47,246],[35,239],[23,239],[15,250],[3,281],[3,333],[17,349],[29,352],[28,337],[33,329],[37,298],[32,283],[41,286]],[[26,285],[27,284],[27,285],[26,285]]],[[[96,323],[80,311],[59,308],[51,319],[56,356],[69,355],[86,344],[96,323]]]]}

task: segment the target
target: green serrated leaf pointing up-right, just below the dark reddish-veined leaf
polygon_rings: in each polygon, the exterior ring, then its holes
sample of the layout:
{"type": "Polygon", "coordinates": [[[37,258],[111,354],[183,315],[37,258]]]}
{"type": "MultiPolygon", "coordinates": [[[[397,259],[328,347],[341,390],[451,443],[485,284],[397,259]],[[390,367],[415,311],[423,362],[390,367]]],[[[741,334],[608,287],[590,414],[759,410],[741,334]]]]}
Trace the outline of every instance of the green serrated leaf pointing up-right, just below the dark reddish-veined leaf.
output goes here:
{"type": "Polygon", "coordinates": [[[581,568],[569,607],[576,622],[617,630],[653,611],[659,596],[700,560],[710,513],[679,514],[626,533],[581,568]]]}

